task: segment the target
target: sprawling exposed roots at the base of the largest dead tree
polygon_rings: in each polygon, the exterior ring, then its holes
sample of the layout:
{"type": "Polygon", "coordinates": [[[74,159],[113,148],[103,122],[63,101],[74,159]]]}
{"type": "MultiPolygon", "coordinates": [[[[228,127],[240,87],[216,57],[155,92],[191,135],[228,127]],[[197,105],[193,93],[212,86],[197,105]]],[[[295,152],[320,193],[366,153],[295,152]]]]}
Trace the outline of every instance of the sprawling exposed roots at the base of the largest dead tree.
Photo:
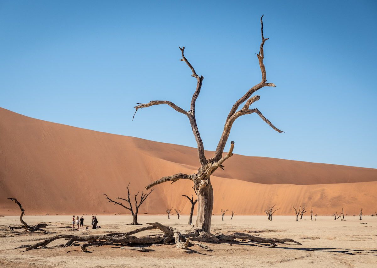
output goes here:
{"type": "MultiPolygon", "coordinates": [[[[221,243],[225,242],[225,244],[229,244],[227,242],[247,242],[247,243],[268,243],[271,245],[276,246],[277,243],[284,244],[285,242],[296,243],[301,245],[301,243],[294,241],[290,238],[263,238],[263,237],[256,237],[250,234],[245,233],[231,233],[231,234],[211,234],[199,231],[197,228],[192,228],[190,230],[180,232],[176,228],[165,226],[160,224],[159,222],[149,223],[150,226],[143,227],[136,229],[134,231],[130,231],[127,233],[108,233],[108,234],[99,234],[99,235],[87,235],[87,236],[74,236],[71,234],[59,234],[56,236],[52,236],[46,240],[41,242],[35,243],[34,245],[21,245],[18,248],[26,248],[26,250],[34,250],[37,248],[44,248],[49,243],[57,239],[67,239],[68,242],[64,245],[64,247],[69,246],[78,246],[77,243],[84,242],[81,247],[81,251],[87,251],[87,247],[91,246],[102,246],[102,245],[120,245],[122,249],[129,249],[129,250],[138,250],[141,252],[153,251],[147,249],[145,247],[129,247],[129,243],[134,245],[176,245],[177,248],[183,250],[185,253],[192,253],[189,247],[193,245],[197,245],[198,247],[204,248],[205,250],[212,251],[211,248],[202,244],[202,243],[190,243],[190,241],[197,241],[197,242],[212,242],[212,243],[221,243]],[[159,235],[149,235],[149,236],[142,236],[136,237],[132,236],[132,234],[139,233],[141,231],[146,230],[153,230],[159,229],[164,234],[159,235]],[[173,241],[173,242],[172,242],[173,241]]],[[[231,245],[231,244],[229,244],[231,245]]]]}

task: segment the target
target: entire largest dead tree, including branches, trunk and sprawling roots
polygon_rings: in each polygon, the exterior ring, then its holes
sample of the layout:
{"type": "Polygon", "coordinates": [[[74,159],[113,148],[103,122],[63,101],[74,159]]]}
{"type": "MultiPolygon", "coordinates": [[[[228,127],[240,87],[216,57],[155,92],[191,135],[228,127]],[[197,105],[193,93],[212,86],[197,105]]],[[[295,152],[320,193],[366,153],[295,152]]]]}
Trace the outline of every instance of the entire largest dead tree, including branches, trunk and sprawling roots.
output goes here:
{"type": "Polygon", "coordinates": [[[242,241],[246,241],[246,243],[249,243],[249,242],[269,243],[274,246],[276,246],[277,243],[285,243],[285,242],[297,243],[301,245],[301,243],[296,242],[289,238],[267,239],[267,238],[263,238],[259,236],[258,237],[252,236],[246,233],[231,233],[231,234],[219,233],[216,235],[210,233],[211,216],[212,216],[212,210],[213,210],[213,188],[211,185],[211,175],[218,168],[223,169],[224,168],[223,163],[233,155],[234,142],[230,142],[230,149],[227,154],[223,155],[223,152],[224,152],[225,145],[227,144],[230,130],[234,121],[240,116],[249,115],[251,113],[256,113],[270,127],[272,127],[277,132],[282,133],[282,131],[277,129],[267,118],[265,118],[265,116],[257,108],[250,108],[250,106],[254,102],[258,101],[260,98],[259,96],[252,96],[257,90],[263,87],[275,87],[275,84],[267,83],[266,69],[263,63],[263,59],[264,59],[263,47],[264,47],[265,41],[268,40],[268,38],[264,38],[264,35],[263,35],[262,17],[261,17],[262,41],[261,41],[261,46],[259,48],[259,53],[257,54],[259,67],[262,73],[261,82],[251,87],[241,98],[239,98],[233,104],[225,120],[224,130],[222,132],[221,138],[219,140],[218,146],[216,148],[216,151],[213,157],[211,158],[205,157],[204,145],[200,137],[198,126],[196,124],[196,118],[195,118],[195,102],[199,96],[199,93],[202,87],[202,81],[204,78],[196,74],[195,69],[189,63],[187,58],[184,56],[184,49],[185,49],[184,47],[182,48],[180,47],[181,54],[182,54],[181,61],[184,61],[187,64],[187,66],[189,66],[192,72],[192,76],[196,78],[197,80],[196,90],[192,96],[192,100],[190,104],[190,110],[186,111],[170,101],[150,101],[149,103],[146,103],[146,104],[138,103],[138,105],[135,106],[135,109],[136,109],[135,113],[136,113],[136,111],[141,108],[146,108],[146,107],[159,105],[159,104],[166,104],[172,107],[177,112],[182,113],[185,116],[187,116],[187,118],[189,118],[193,135],[195,136],[196,143],[198,145],[198,156],[199,156],[199,162],[201,164],[200,167],[198,168],[198,172],[194,174],[178,173],[175,175],[162,177],[161,179],[147,185],[146,189],[148,190],[152,188],[153,186],[157,184],[161,184],[163,182],[173,183],[173,182],[178,181],[179,179],[188,179],[188,180],[193,181],[193,184],[197,192],[197,196],[198,196],[198,217],[196,218],[195,228],[191,228],[190,230],[187,230],[185,232],[180,232],[176,228],[164,226],[158,222],[155,222],[155,223],[150,223],[149,225],[151,226],[149,228],[144,227],[138,230],[130,231],[128,233],[110,233],[106,235],[88,235],[88,236],[72,236],[69,234],[60,234],[57,236],[50,237],[44,241],[35,243],[34,245],[23,245],[21,247],[26,248],[26,250],[46,247],[46,245],[48,245],[49,243],[57,239],[69,239],[65,246],[72,245],[73,243],[84,242],[84,244],[81,245],[81,248],[83,249],[85,249],[86,247],[89,247],[90,245],[97,245],[97,246],[126,245],[127,243],[132,243],[132,244],[144,244],[148,246],[148,245],[151,245],[152,243],[157,243],[161,245],[161,244],[167,244],[167,243],[173,242],[175,243],[177,248],[179,248],[180,250],[187,251],[187,252],[190,252],[189,247],[191,247],[192,245],[197,245],[194,243],[189,243],[191,241],[216,243],[216,242],[232,242],[232,241],[242,240],[242,241]],[[244,105],[242,106],[243,103],[244,105]],[[240,106],[241,106],[241,109],[240,109],[240,106]],[[157,228],[161,230],[164,234],[162,235],[155,234],[155,235],[149,235],[149,236],[143,236],[143,237],[136,237],[136,236],[131,235],[131,234],[135,234],[141,231],[152,230],[152,229],[157,229],[157,228]]]}

